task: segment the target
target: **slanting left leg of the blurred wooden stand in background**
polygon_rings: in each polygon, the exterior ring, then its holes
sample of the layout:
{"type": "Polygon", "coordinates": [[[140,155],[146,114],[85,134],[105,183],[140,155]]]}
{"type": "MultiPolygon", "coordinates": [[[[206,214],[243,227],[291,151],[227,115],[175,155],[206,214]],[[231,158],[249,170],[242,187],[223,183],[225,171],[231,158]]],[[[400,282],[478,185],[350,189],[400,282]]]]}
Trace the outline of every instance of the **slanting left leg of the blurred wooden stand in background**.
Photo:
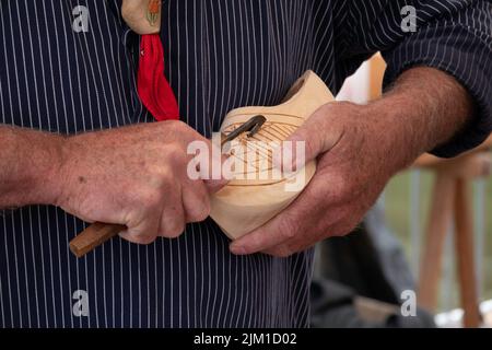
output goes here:
{"type": "Polygon", "coordinates": [[[419,273],[419,304],[429,311],[436,307],[443,248],[452,222],[454,197],[455,178],[445,172],[437,172],[419,273]]]}

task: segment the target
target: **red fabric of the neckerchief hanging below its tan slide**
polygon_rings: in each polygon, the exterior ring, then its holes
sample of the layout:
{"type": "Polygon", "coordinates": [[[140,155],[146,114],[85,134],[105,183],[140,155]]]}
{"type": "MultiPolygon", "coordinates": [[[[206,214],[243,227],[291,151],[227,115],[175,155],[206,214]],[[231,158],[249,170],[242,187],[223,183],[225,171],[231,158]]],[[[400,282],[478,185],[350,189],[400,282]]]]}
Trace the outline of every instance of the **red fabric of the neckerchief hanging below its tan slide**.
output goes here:
{"type": "Polygon", "coordinates": [[[176,97],[164,75],[164,50],[159,34],[142,35],[137,89],[143,105],[161,120],[179,119],[176,97]]]}

